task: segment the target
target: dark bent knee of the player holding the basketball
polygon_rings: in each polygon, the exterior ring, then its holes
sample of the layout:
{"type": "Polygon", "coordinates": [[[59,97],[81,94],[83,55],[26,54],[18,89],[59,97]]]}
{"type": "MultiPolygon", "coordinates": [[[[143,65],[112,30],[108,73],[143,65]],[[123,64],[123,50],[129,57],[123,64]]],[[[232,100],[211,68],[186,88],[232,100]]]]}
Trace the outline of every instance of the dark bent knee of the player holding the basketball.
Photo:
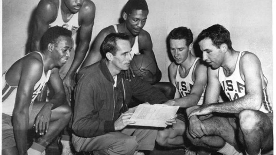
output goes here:
{"type": "Polygon", "coordinates": [[[175,86],[170,82],[157,82],[152,85],[155,88],[159,89],[168,99],[173,99],[175,97],[175,86]]]}

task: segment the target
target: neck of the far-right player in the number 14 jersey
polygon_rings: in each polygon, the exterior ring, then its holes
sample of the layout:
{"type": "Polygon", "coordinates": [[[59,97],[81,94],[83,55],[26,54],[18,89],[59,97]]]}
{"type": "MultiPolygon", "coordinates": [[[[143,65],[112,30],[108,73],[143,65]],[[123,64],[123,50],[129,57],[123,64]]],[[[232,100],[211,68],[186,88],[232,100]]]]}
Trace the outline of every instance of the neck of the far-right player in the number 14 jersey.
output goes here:
{"type": "Polygon", "coordinates": [[[229,50],[225,53],[224,61],[221,67],[223,67],[223,71],[225,75],[231,75],[235,70],[236,62],[238,59],[239,52],[235,50],[229,50]]]}

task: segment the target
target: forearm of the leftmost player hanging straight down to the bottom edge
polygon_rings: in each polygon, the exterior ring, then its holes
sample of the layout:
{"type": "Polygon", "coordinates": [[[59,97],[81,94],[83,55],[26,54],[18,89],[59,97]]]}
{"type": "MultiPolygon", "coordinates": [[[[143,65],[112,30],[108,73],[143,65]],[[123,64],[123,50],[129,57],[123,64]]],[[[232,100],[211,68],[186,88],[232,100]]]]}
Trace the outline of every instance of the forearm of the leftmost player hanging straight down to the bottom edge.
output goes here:
{"type": "Polygon", "coordinates": [[[28,113],[18,113],[13,115],[13,128],[14,128],[14,138],[16,141],[16,146],[20,155],[26,155],[27,146],[27,135],[28,135],[28,123],[29,116],[28,113]]]}

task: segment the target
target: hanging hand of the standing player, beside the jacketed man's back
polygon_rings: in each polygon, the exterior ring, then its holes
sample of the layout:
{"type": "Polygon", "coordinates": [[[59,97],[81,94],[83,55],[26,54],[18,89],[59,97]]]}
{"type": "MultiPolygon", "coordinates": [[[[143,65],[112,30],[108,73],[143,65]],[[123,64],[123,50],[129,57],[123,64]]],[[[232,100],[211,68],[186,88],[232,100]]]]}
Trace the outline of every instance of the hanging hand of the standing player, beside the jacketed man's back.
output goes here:
{"type": "Polygon", "coordinates": [[[71,106],[71,93],[76,86],[75,76],[66,75],[62,82],[66,94],[66,100],[68,104],[71,106]]]}

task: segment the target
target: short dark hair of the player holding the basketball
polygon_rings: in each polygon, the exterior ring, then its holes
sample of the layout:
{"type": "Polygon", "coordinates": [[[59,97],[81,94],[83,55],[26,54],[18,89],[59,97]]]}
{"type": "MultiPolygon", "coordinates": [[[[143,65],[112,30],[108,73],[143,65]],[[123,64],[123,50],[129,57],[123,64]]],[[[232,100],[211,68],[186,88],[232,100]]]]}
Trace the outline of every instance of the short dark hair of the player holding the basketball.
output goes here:
{"type": "Polygon", "coordinates": [[[123,12],[131,14],[133,10],[144,10],[148,11],[147,2],[145,0],[129,0],[124,6],[123,12]]]}

